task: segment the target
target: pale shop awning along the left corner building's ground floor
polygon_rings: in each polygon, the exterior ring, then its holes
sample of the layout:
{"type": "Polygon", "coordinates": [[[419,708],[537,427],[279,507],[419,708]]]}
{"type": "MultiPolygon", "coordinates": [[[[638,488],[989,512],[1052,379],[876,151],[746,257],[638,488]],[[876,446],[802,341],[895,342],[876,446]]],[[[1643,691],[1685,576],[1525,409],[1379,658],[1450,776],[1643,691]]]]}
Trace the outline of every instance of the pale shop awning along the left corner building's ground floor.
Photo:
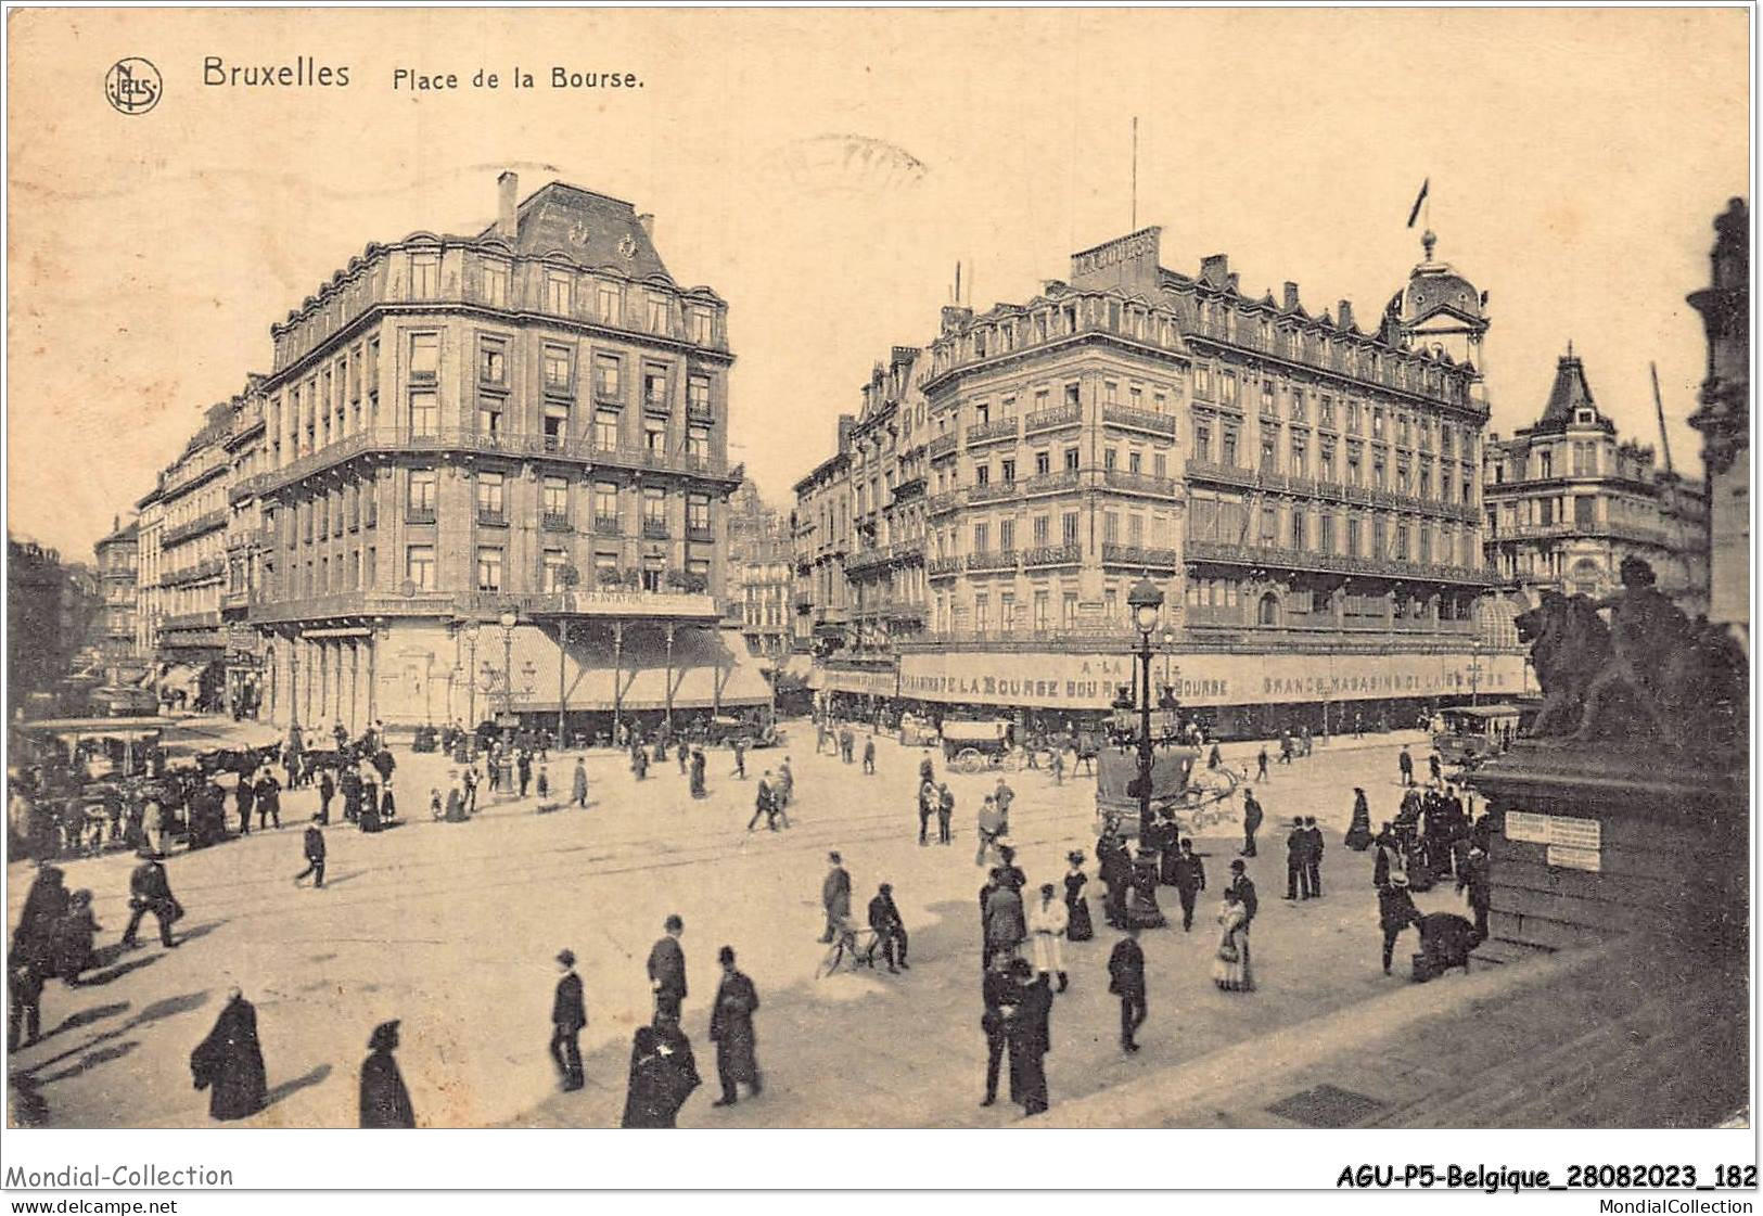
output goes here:
{"type": "MultiPolygon", "coordinates": [[[[478,643],[478,659],[480,664],[487,659],[490,671],[480,670],[478,696],[490,696],[488,703],[499,708],[501,641],[490,629],[483,633],[483,640],[478,643]],[[492,640],[492,645],[487,647],[483,640],[492,640]]],[[[517,710],[557,712],[557,661],[554,627],[515,629],[511,666],[517,710]]],[[[670,689],[677,710],[770,703],[770,686],[758,659],[748,654],[739,629],[675,626],[670,666],[663,624],[624,626],[617,656],[610,626],[573,624],[562,678],[569,710],[610,712],[614,701],[626,710],[666,708],[670,689]]]]}

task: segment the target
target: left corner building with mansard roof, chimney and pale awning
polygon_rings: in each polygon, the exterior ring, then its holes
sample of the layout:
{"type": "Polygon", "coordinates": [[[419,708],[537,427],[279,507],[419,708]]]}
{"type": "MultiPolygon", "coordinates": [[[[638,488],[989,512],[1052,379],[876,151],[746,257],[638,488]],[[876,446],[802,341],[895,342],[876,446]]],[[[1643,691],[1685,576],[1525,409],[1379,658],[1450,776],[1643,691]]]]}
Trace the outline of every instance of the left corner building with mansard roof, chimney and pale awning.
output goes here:
{"type": "Polygon", "coordinates": [[[629,203],[497,187],[483,233],[368,245],[272,328],[236,490],[264,716],[605,733],[763,703],[716,604],[726,305],[629,203]]]}

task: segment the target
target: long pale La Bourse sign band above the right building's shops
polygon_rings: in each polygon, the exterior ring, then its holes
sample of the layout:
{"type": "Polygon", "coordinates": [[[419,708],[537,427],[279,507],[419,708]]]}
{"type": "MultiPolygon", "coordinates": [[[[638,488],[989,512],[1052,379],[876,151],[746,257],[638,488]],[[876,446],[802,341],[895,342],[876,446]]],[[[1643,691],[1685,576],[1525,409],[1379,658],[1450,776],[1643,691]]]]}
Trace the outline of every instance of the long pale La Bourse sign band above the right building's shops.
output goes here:
{"type": "MultiPolygon", "coordinates": [[[[1495,696],[1525,686],[1518,654],[1178,654],[1172,663],[1183,707],[1467,696],[1472,687],[1495,696]],[[1474,684],[1470,664],[1477,664],[1474,684]]],[[[1160,657],[1153,675],[1162,678],[1160,657]]],[[[1132,678],[1125,647],[1120,654],[945,650],[899,661],[901,696],[945,703],[1107,708],[1132,678]]]]}

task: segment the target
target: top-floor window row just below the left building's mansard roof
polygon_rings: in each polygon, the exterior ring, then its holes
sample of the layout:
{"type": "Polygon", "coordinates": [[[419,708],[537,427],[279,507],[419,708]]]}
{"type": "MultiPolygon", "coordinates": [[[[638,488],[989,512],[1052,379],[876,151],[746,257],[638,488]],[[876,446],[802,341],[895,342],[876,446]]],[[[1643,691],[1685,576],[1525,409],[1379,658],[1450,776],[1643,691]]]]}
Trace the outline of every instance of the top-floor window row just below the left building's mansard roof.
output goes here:
{"type": "Polygon", "coordinates": [[[688,301],[652,285],[640,287],[561,266],[539,268],[483,254],[471,254],[465,259],[465,273],[444,282],[439,250],[404,250],[386,257],[404,259],[402,291],[383,273],[358,275],[291,328],[277,331],[277,370],[323,344],[376,303],[478,303],[487,308],[545,312],[710,349],[726,344],[721,308],[688,301]],[[527,282],[518,284],[518,289],[517,266],[531,266],[527,282]]]}

